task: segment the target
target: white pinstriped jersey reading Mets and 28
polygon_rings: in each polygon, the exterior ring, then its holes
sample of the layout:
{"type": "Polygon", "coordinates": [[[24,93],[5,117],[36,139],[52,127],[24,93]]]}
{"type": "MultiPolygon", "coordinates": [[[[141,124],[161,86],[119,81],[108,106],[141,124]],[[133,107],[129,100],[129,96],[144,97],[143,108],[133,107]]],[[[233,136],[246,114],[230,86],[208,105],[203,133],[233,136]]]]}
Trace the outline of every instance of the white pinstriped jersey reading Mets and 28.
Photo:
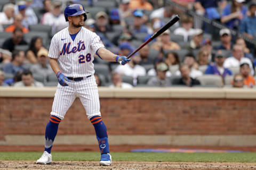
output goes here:
{"type": "Polygon", "coordinates": [[[73,41],[68,27],[56,33],[49,49],[49,57],[58,58],[60,71],[67,77],[87,77],[94,74],[94,54],[104,47],[96,33],[82,27],[73,41]]]}

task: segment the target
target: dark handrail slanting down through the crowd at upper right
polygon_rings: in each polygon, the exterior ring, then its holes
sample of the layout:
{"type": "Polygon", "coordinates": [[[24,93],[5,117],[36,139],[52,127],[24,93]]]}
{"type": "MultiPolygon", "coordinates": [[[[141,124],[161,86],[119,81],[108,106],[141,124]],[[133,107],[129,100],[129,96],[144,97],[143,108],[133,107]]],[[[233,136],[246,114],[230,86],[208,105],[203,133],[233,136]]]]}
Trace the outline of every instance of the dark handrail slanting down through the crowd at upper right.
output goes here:
{"type": "Polygon", "coordinates": [[[172,5],[172,6],[175,6],[177,8],[179,8],[179,10],[182,10],[184,12],[186,12],[188,15],[191,15],[193,16],[194,18],[197,18],[201,21],[204,21],[208,24],[211,24],[213,27],[215,28],[218,28],[218,29],[222,29],[222,28],[227,28],[230,30],[231,34],[233,36],[238,36],[238,37],[241,37],[243,38],[245,41],[247,41],[248,43],[251,43],[253,45],[256,45],[256,40],[255,39],[252,39],[252,38],[249,38],[249,37],[246,37],[244,36],[241,32],[237,31],[237,30],[234,30],[234,29],[230,29],[228,27],[226,27],[226,25],[218,22],[218,21],[212,21],[210,20],[209,18],[206,18],[205,16],[201,16],[201,15],[198,15],[196,14],[193,10],[189,10],[188,8],[182,6],[182,5],[179,5],[171,0],[165,0],[165,4],[166,5],[172,5]]]}

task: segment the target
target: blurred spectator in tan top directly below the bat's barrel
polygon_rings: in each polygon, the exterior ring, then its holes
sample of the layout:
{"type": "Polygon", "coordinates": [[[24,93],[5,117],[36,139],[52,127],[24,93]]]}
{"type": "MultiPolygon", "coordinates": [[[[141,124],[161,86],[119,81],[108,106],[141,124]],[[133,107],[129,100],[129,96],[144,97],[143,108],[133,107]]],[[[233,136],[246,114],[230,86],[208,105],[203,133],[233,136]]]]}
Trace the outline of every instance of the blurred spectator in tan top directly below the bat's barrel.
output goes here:
{"type": "Polygon", "coordinates": [[[170,33],[170,30],[164,31],[162,35],[159,36],[159,40],[151,45],[151,48],[158,50],[158,52],[161,52],[161,50],[179,50],[179,44],[171,41],[170,33]]]}

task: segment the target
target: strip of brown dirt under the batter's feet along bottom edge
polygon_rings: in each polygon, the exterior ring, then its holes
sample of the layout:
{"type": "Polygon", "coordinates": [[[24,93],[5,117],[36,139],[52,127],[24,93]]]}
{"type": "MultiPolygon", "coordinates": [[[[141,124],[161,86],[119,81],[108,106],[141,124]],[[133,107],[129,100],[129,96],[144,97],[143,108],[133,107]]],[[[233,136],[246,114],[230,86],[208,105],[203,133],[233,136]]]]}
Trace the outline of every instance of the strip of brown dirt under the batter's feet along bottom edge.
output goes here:
{"type": "Polygon", "coordinates": [[[255,163],[165,163],[165,162],[113,162],[99,166],[99,162],[58,161],[50,165],[37,165],[33,161],[0,161],[0,169],[256,169],[255,163]]]}

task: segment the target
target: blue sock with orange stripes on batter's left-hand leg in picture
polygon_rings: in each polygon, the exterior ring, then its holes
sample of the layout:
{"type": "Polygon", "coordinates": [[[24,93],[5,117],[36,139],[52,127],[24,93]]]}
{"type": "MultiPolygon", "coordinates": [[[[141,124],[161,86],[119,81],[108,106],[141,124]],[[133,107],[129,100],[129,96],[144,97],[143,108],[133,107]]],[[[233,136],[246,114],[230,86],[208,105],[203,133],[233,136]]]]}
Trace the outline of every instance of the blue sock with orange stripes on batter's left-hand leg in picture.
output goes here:
{"type": "Polygon", "coordinates": [[[51,154],[52,143],[57,135],[60,121],[59,117],[51,115],[50,121],[46,125],[44,151],[47,151],[49,154],[51,154]]]}

